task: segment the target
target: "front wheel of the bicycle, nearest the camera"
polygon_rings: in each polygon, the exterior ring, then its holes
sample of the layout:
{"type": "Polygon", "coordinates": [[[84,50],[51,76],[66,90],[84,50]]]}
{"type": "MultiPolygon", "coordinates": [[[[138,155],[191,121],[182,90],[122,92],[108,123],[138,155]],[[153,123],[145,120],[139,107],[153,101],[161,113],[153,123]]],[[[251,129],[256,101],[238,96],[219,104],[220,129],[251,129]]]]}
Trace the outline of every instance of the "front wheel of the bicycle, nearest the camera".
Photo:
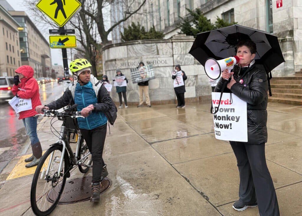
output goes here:
{"type": "Polygon", "coordinates": [[[68,153],[62,155],[62,145],[50,147],[40,159],[31,184],[31,208],[36,215],[49,215],[56,207],[65,183],[69,167],[68,153]],[[60,161],[63,166],[58,175],[60,161]],[[50,166],[48,164],[50,163],[50,166]],[[47,175],[47,168],[49,169],[47,175]]]}

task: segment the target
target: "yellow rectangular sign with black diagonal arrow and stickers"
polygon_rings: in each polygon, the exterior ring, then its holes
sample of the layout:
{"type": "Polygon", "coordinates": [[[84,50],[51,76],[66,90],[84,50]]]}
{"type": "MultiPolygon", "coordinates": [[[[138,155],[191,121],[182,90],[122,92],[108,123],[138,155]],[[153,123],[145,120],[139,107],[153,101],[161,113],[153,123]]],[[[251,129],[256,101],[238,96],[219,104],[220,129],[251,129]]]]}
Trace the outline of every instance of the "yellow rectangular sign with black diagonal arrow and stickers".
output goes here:
{"type": "Polygon", "coordinates": [[[76,36],[75,35],[54,35],[49,36],[50,48],[75,48],[76,36]]]}

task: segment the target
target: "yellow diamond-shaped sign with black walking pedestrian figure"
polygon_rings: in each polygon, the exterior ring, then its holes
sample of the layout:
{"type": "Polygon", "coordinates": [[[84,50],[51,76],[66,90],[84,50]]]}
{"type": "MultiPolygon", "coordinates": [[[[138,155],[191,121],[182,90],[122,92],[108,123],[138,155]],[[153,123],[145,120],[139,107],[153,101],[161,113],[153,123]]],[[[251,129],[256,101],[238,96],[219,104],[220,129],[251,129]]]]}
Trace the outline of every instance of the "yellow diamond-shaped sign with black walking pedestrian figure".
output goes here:
{"type": "Polygon", "coordinates": [[[36,7],[62,27],[81,7],[78,0],[40,0],[36,7]]]}

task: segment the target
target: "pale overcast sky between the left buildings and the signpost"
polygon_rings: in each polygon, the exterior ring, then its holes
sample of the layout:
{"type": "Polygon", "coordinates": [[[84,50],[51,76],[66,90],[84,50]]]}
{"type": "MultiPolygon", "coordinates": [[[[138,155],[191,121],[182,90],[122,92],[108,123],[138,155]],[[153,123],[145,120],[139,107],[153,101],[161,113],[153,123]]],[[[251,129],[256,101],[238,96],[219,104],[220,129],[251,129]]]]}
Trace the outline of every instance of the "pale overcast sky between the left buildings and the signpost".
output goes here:
{"type": "MultiPolygon", "coordinates": [[[[34,22],[34,19],[31,18],[31,14],[29,14],[29,12],[26,10],[26,5],[24,5],[23,0],[6,0],[6,1],[14,8],[15,11],[25,11],[27,16],[29,16],[29,18],[31,19],[31,21],[34,22]]],[[[37,28],[39,29],[39,27],[37,27],[37,28]]],[[[50,28],[53,29],[53,27],[50,27],[50,28]]],[[[41,32],[41,33],[44,35],[46,40],[49,41],[48,32],[41,32]]],[[[68,50],[67,50],[67,55],[70,55],[70,52],[68,50]]],[[[51,51],[52,64],[63,65],[62,50],[61,49],[50,49],[50,51],[51,51]]]]}

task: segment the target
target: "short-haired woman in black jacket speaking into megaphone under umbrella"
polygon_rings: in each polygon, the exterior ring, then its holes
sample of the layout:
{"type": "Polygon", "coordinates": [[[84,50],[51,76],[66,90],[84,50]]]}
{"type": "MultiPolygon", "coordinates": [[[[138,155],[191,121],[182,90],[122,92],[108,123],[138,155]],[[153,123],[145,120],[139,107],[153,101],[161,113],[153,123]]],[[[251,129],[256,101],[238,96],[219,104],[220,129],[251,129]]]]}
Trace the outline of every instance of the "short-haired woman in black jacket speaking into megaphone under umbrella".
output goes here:
{"type": "MultiPolygon", "coordinates": [[[[247,103],[247,142],[230,141],[239,169],[239,200],[233,204],[237,211],[258,205],[260,215],[280,215],[271,175],[265,160],[267,142],[268,78],[262,65],[255,64],[256,44],[239,41],[236,56],[239,62],[232,71],[222,72],[214,91],[232,92],[247,103]]],[[[240,131],[238,131],[240,134],[240,131]]]]}

